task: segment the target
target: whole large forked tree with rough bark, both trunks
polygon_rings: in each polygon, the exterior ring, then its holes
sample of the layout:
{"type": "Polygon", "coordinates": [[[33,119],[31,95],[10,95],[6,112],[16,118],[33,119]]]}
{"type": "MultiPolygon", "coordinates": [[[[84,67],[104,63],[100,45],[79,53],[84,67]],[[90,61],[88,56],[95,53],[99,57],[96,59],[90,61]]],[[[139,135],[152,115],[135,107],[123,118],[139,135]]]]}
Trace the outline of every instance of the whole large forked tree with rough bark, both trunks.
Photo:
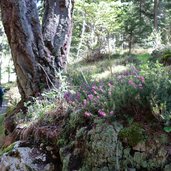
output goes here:
{"type": "Polygon", "coordinates": [[[64,69],[71,39],[72,0],[44,0],[42,25],[37,0],[1,0],[2,21],[23,100],[53,82],[64,69]]]}

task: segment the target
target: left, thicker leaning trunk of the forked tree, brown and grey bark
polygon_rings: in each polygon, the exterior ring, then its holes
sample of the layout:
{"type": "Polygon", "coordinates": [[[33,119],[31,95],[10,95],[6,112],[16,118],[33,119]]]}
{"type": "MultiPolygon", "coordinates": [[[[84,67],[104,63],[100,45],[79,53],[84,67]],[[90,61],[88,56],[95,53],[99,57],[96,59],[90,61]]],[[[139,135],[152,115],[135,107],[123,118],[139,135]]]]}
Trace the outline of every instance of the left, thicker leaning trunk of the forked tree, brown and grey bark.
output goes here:
{"type": "Polygon", "coordinates": [[[48,54],[42,39],[36,3],[34,0],[1,0],[1,11],[18,88],[22,99],[27,99],[40,92],[41,84],[47,84],[40,64],[45,64],[48,54]]]}

